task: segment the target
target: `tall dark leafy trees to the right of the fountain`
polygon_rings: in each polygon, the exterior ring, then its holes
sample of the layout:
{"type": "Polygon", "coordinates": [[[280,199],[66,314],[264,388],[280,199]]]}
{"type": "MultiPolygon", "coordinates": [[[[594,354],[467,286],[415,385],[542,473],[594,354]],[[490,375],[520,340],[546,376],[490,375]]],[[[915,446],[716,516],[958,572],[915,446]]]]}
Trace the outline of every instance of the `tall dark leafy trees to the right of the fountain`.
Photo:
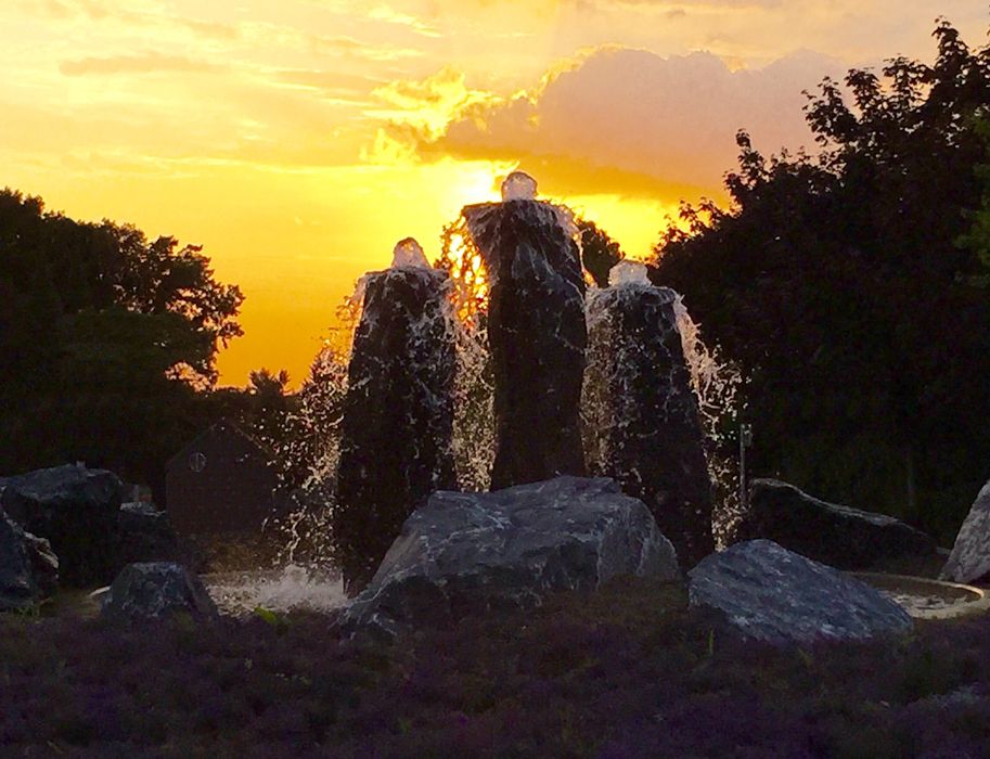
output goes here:
{"type": "Polygon", "coordinates": [[[655,275],[747,376],[759,474],[951,541],[990,476],[990,51],[934,36],[809,94],[814,156],[741,132],[655,275]]]}

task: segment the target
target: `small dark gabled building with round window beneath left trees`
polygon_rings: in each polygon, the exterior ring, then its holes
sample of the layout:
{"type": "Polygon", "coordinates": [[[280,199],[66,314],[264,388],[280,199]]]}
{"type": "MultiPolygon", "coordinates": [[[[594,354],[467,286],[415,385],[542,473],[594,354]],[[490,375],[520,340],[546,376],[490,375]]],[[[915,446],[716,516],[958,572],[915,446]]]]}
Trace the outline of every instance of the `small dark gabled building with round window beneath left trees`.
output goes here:
{"type": "Polygon", "coordinates": [[[169,517],[180,535],[256,532],[280,499],[274,454],[230,420],[201,433],[167,464],[169,517]]]}

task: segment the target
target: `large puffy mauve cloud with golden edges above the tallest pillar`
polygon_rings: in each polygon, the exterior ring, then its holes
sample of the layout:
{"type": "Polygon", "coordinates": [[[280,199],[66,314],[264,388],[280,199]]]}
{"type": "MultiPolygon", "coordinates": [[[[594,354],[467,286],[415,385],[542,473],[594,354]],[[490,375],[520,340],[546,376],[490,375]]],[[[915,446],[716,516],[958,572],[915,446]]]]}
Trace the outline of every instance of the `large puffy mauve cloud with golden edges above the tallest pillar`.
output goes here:
{"type": "Polygon", "coordinates": [[[732,70],[710,53],[661,57],[609,47],[507,99],[467,99],[463,77],[450,69],[378,92],[404,114],[429,115],[386,127],[424,158],[558,164],[580,185],[574,192],[645,196],[659,186],[717,186],[735,163],[740,129],[768,152],[811,143],[802,90],[841,70],[807,51],[732,70]]]}

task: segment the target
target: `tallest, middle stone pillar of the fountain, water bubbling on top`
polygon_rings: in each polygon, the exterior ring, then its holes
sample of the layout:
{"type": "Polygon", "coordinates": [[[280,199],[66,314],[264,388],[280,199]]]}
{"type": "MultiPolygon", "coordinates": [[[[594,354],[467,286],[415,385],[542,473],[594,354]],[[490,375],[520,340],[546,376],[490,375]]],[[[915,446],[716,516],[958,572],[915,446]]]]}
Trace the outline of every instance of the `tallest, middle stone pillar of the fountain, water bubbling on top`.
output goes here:
{"type": "Polygon", "coordinates": [[[584,474],[580,402],[587,327],[584,280],[566,211],[536,198],[522,171],[502,203],[467,206],[485,260],[494,374],[491,489],[584,474]]]}

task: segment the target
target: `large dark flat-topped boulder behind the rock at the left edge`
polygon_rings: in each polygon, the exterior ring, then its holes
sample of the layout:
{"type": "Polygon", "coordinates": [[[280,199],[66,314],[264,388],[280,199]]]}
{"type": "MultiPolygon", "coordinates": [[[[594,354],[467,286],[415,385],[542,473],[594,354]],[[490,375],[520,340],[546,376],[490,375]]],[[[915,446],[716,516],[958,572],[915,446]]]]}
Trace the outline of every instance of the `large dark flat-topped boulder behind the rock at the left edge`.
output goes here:
{"type": "Polygon", "coordinates": [[[7,478],[0,507],[25,531],[51,543],[64,583],[106,583],[117,568],[121,485],[105,469],[56,466],[7,478]]]}

